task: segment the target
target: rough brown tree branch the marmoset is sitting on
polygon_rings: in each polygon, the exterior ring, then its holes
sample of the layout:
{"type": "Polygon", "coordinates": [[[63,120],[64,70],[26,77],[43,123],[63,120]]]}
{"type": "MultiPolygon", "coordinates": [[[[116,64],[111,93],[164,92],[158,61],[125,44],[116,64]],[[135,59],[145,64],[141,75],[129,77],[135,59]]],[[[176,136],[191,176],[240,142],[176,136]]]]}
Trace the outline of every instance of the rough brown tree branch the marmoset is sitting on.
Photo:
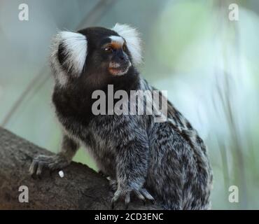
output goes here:
{"type": "MultiPolygon", "coordinates": [[[[44,172],[41,179],[29,176],[31,160],[38,154],[52,153],[0,127],[0,209],[111,209],[108,180],[86,165],[72,162],[63,169],[63,178],[58,172],[44,172]],[[18,200],[20,186],[29,188],[28,203],[18,200]]],[[[122,202],[116,205],[124,208],[122,202]]],[[[129,209],[160,208],[132,197],[129,209]]]]}

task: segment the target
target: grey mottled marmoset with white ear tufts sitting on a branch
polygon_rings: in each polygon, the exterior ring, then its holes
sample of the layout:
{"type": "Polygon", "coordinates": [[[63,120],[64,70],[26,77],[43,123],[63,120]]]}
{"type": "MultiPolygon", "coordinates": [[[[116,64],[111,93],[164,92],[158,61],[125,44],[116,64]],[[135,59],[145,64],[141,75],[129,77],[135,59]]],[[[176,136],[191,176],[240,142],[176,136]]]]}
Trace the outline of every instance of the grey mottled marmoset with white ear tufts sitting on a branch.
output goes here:
{"type": "MultiPolygon", "coordinates": [[[[100,105],[106,113],[93,113],[94,91],[108,94],[108,85],[129,95],[132,90],[156,90],[137,71],[141,60],[139,32],[129,25],[59,31],[52,41],[50,65],[62,147],[57,155],[34,158],[29,172],[41,175],[45,168],[62,169],[83,146],[99,171],[109,176],[115,190],[112,206],[119,199],[127,206],[135,194],[163,209],[210,209],[212,172],[207,148],[171,102],[164,101],[164,122],[155,122],[154,113],[111,113],[116,109],[107,102],[100,105]]],[[[162,92],[159,99],[165,99],[162,92]]],[[[132,107],[129,98],[114,100],[132,107]]],[[[149,100],[137,99],[133,106],[138,112],[138,103],[143,106],[149,100]]],[[[158,104],[152,108],[162,106],[158,104]]]]}

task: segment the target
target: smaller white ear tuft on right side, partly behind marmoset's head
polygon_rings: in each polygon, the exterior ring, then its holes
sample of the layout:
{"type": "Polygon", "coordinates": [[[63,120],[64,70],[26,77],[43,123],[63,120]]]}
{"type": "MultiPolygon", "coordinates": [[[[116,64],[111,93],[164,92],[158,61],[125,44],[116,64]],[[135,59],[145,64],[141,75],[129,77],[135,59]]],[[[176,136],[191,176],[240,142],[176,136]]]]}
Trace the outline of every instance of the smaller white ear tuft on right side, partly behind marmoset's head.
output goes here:
{"type": "Polygon", "coordinates": [[[127,48],[130,50],[130,54],[132,55],[133,63],[136,65],[141,64],[141,38],[139,37],[137,29],[134,29],[129,25],[120,25],[119,23],[116,23],[112,30],[125,38],[127,48]]]}

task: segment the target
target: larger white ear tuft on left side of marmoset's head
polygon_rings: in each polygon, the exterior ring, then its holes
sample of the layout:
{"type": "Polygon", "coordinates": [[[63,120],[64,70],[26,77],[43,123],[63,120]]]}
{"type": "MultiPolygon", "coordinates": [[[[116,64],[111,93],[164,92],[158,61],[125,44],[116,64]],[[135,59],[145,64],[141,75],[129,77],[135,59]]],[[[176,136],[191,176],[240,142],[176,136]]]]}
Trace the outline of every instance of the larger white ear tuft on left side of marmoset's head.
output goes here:
{"type": "Polygon", "coordinates": [[[71,31],[57,33],[52,41],[50,63],[60,84],[66,83],[67,73],[71,73],[73,76],[80,75],[85,66],[86,56],[87,39],[83,34],[71,31]],[[62,45],[62,55],[64,55],[62,64],[58,59],[59,45],[62,45]]]}

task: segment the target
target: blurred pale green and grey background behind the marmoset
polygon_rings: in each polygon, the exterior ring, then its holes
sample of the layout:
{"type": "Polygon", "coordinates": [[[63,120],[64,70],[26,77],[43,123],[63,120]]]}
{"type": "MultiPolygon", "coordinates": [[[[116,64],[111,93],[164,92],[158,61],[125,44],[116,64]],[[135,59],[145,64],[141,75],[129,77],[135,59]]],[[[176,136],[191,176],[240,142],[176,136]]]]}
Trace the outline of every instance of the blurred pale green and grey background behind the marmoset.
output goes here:
{"type": "MultiPolygon", "coordinates": [[[[259,209],[259,1],[0,0],[0,125],[57,152],[51,37],[62,29],[137,27],[141,74],[190,120],[209,148],[213,209],[259,209]],[[27,3],[29,21],[18,6],[27,3]],[[230,3],[239,20],[230,21],[230,3]],[[229,187],[238,186],[239,203],[229,187]]],[[[1,150],[1,149],[0,149],[1,150]]],[[[75,161],[96,169],[84,149],[75,161]]]]}

